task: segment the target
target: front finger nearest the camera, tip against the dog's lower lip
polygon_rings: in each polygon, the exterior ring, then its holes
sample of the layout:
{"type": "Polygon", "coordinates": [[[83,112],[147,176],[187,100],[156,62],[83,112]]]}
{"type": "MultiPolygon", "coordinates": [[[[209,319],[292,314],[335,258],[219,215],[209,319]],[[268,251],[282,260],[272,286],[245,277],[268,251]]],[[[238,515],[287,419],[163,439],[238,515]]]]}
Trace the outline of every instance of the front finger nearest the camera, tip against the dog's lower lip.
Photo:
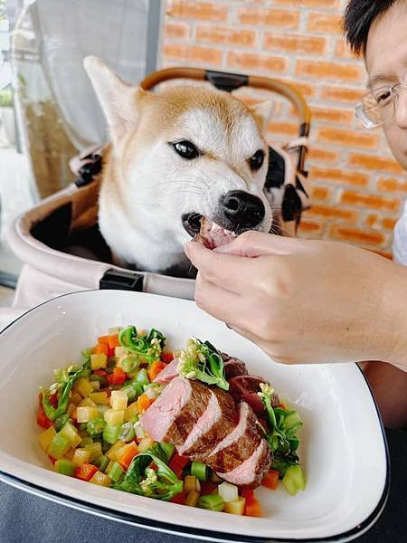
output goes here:
{"type": "Polygon", "coordinates": [[[250,290],[253,278],[258,275],[258,266],[252,259],[213,252],[201,243],[186,243],[185,253],[204,280],[227,291],[250,290]]]}

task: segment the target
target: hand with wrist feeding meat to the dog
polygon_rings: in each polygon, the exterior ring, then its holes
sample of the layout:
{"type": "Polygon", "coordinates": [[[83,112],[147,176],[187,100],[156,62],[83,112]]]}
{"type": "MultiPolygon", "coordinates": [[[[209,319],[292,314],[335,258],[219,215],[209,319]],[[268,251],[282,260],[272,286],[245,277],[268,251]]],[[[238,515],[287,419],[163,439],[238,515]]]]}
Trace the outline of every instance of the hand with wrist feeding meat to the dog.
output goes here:
{"type": "Polygon", "coordinates": [[[402,266],[345,243],[258,232],[185,252],[198,269],[197,305],[276,362],[403,363],[402,266]]]}

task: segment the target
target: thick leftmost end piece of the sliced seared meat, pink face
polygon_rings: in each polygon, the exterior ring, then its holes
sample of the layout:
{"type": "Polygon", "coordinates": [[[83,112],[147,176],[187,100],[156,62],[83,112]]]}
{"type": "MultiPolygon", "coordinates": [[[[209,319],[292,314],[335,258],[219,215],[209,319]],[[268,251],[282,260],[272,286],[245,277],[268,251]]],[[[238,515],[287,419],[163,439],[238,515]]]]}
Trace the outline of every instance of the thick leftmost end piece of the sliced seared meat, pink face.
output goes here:
{"type": "Polygon", "coordinates": [[[177,376],[141,415],[141,425],[155,441],[182,445],[210,399],[211,390],[207,386],[177,376]]]}

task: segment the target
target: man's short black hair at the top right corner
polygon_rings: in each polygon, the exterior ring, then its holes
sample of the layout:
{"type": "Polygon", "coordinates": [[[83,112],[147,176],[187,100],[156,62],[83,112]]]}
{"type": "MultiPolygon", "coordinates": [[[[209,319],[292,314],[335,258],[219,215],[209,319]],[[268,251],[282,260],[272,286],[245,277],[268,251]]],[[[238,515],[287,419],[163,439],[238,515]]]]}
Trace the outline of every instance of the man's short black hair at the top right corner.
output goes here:
{"type": "Polygon", "coordinates": [[[344,30],[347,43],[355,55],[366,53],[367,35],[379,15],[385,14],[400,0],[350,0],[346,6],[344,30]]]}

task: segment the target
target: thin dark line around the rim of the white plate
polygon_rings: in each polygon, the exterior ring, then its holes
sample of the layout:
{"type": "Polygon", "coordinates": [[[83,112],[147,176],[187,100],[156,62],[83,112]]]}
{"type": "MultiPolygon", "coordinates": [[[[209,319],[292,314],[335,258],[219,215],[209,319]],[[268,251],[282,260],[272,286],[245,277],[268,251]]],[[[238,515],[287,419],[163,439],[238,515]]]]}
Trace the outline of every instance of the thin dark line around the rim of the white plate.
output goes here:
{"type": "MultiPolygon", "coordinates": [[[[107,291],[114,292],[114,290],[107,290],[107,291]]],[[[52,298],[52,300],[43,301],[42,303],[33,307],[31,310],[26,311],[23,315],[20,315],[20,317],[17,317],[17,319],[14,319],[4,329],[0,330],[0,337],[5,332],[5,330],[12,327],[15,322],[17,322],[20,319],[23,319],[28,313],[31,313],[33,310],[40,308],[41,306],[49,303],[50,301],[58,300],[60,298],[64,298],[65,296],[71,296],[72,294],[84,293],[84,292],[98,292],[98,290],[89,289],[85,291],[68,292],[66,294],[61,294],[60,296],[56,296],[55,298],[52,298]]],[[[356,365],[356,367],[358,366],[356,365]]],[[[304,538],[289,538],[289,539],[288,538],[272,538],[270,539],[270,538],[253,538],[251,536],[243,536],[241,538],[240,536],[236,536],[234,534],[230,534],[227,532],[217,532],[210,529],[195,529],[195,528],[170,524],[164,521],[144,519],[143,517],[137,517],[135,515],[130,515],[121,511],[111,510],[109,508],[105,508],[97,504],[90,504],[87,501],[78,500],[77,498],[67,498],[60,492],[52,491],[50,489],[44,489],[43,487],[35,485],[31,482],[24,481],[23,479],[15,477],[14,475],[2,472],[1,469],[0,469],[0,481],[3,481],[6,484],[9,484],[19,490],[27,491],[31,494],[39,496],[45,500],[51,500],[61,505],[71,507],[71,509],[82,510],[82,511],[90,513],[91,515],[99,516],[104,519],[115,520],[117,522],[122,522],[124,524],[137,526],[139,528],[154,529],[155,531],[171,533],[177,536],[185,536],[187,538],[205,538],[206,540],[217,540],[217,541],[222,541],[225,543],[229,543],[229,542],[236,542],[236,543],[293,543],[293,542],[295,543],[323,543],[323,542],[345,543],[345,541],[351,541],[352,539],[360,537],[362,534],[364,534],[364,532],[372,528],[376,520],[379,519],[389,497],[390,478],[391,478],[389,447],[387,443],[386,434],[384,432],[382,417],[377,407],[372,389],[366,377],[364,376],[362,369],[360,367],[358,367],[358,369],[361,372],[362,376],[364,377],[364,382],[372,397],[374,408],[376,410],[377,418],[380,424],[380,429],[381,429],[382,438],[383,438],[385,459],[386,459],[386,477],[384,481],[382,496],[379,502],[377,503],[376,507],[374,508],[373,512],[366,519],[364,519],[363,522],[355,526],[355,528],[346,530],[345,532],[340,533],[340,534],[327,536],[326,538],[307,538],[307,539],[304,539],[304,538]]]]}

